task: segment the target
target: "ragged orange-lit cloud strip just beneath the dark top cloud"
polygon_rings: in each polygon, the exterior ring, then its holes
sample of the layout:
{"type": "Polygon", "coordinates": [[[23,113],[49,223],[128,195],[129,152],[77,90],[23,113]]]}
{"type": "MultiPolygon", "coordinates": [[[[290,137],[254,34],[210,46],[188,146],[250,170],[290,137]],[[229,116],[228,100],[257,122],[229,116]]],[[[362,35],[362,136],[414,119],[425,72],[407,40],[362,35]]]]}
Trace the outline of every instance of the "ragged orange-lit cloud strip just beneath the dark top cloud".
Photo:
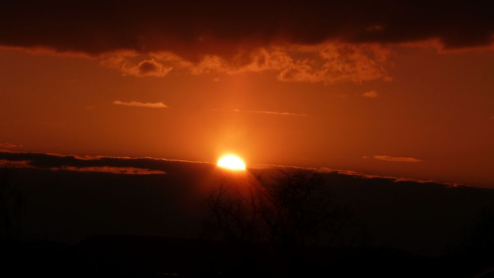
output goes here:
{"type": "MultiPolygon", "coordinates": [[[[165,68],[186,69],[192,75],[271,71],[288,82],[356,82],[389,80],[386,67],[390,50],[377,44],[327,41],[315,45],[269,46],[240,50],[232,58],[205,55],[194,63],[170,52],[152,54],[152,60],[165,68]]],[[[107,59],[113,68],[128,68],[122,57],[107,59]],[[119,66],[112,66],[112,65],[119,66]],[[123,66],[122,66],[123,65],[123,66]]]]}

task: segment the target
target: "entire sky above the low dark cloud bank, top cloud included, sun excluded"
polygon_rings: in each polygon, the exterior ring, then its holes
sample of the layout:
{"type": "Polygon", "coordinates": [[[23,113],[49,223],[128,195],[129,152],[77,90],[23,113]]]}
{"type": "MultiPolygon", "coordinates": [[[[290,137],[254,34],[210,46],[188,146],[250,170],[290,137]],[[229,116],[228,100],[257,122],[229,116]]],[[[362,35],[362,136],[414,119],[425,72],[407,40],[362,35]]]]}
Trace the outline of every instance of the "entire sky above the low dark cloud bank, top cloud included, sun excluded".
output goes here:
{"type": "Polygon", "coordinates": [[[485,1],[0,8],[0,149],[494,186],[485,1]]]}

